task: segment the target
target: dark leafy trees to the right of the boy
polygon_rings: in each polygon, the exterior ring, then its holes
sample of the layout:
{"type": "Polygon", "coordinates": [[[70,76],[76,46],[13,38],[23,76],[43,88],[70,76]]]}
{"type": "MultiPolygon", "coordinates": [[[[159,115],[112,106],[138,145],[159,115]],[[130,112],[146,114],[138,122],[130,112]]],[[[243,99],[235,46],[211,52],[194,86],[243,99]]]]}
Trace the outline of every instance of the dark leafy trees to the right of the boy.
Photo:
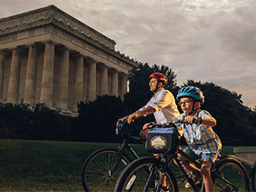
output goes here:
{"type": "Polygon", "coordinates": [[[205,96],[201,109],[216,118],[213,127],[224,145],[255,146],[255,112],[242,104],[242,95],[226,90],[214,83],[188,80],[184,86],[199,87],[205,96]]]}

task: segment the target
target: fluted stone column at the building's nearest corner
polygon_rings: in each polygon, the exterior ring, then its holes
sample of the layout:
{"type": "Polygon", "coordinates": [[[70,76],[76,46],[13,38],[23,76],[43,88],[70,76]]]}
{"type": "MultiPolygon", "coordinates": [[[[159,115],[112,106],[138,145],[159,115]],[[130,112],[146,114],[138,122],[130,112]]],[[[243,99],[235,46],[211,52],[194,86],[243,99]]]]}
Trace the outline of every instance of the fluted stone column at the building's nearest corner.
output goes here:
{"type": "Polygon", "coordinates": [[[54,42],[45,42],[40,102],[52,107],[54,42]]]}

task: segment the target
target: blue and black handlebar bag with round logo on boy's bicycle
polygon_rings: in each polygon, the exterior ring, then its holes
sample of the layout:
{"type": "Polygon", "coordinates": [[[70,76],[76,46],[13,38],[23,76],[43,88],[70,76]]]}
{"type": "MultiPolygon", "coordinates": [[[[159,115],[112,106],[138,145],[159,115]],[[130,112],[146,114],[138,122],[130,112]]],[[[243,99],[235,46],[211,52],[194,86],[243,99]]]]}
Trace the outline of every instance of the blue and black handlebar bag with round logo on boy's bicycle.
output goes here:
{"type": "Polygon", "coordinates": [[[156,127],[147,132],[146,150],[149,153],[175,153],[179,147],[179,132],[175,127],[156,127]]]}

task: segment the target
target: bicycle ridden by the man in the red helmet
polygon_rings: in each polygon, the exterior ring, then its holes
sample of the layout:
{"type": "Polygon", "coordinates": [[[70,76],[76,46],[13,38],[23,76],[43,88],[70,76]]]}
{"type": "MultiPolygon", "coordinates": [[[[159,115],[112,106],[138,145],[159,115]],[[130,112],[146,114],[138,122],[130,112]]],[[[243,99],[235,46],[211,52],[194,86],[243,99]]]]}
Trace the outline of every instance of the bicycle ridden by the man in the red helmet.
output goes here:
{"type": "Polygon", "coordinates": [[[122,138],[122,145],[118,148],[102,148],[87,157],[81,170],[81,182],[85,191],[112,191],[115,181],[122,170],[131,162],[128,150],[134,159],[139,156],[129,144],[129,139],[140,140],[130,135],[130,126],[127,119],[119,121],[116,134],[122,138]]]}

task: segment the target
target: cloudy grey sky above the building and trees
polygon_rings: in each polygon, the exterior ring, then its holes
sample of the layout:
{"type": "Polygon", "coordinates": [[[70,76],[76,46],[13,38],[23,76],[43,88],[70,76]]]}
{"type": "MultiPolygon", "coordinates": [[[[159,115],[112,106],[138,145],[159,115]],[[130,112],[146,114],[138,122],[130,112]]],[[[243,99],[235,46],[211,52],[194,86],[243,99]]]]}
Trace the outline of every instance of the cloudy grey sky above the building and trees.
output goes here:
{"type": "Polygon", "coordinates": [[[115,50],[166,65],[181,86],[212,82],[256,106],[255,0],[0,0],[0,18],[48,5],[115,40],[115,50]]]}

